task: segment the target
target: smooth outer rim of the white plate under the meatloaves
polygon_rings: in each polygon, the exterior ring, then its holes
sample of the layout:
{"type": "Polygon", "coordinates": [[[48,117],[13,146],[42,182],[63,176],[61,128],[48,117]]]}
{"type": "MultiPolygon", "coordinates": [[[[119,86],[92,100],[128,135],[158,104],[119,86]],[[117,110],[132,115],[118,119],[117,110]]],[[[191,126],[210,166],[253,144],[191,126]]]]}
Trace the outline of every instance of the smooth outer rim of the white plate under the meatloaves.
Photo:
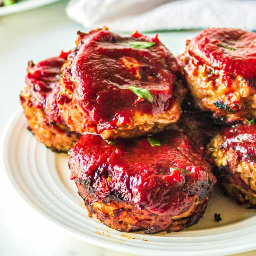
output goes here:
{"type": "MultiPolygon", "coordinates": [[[[155,255],[157,253],[157,255],[187,255],[187,256],[205,256],[206,253],[209,256],[215,256],[215,255],[229,255],[232,253],[241,253],[241,252],[247,252],[250,250],[254,250],[256,249],[256,244],[252,244],[252,243],[246,243],[243,246],[239,245],[239,246],[232,246],[232,247],[227,247],[227,248],[220,248],[220,249],[211,249],[211,251],[207,251],[207,249],[204,249],[202,251],[160,251],[160,250],[152,250],[152,249],[147,249],[147,248],[139,248],[139,247],[131,247],[131,246],[127,246],[125,244],[122,244],[120,242],[119,243],[115,243],[115,242],[111,242],[111,241],[107,241],[105,239],[101,239],[101,235],[99,235],[99,237],[97,239],[95,238],[91,238],[89,235],[79,235],[76,232],[74,232],[72,229],[68,228],[67,226],[57,222],[54,218],[50,217],[47,213],[45,213],[43,210],[41,210],[40,208],[38,208],[37,206],[33,205],[32,202],[27,198],[27,196],[24,194],[24,192],[19,188],[18,184],[16,183],[16,181],[14,180],[14,178],[12,177],[11,171],[9,170],[8,164],[7,164],[7,160],[6,160],[6,154],[4,152],[4,146],[7,143],[7,135],[9,135],[9,130],[12,127],[12,123],[15,121],[15,119],[19,118],[19,116],[22,114],[23,109],[20,106],[15,112],[14,114],[11,116],[11,118],[9,119],[9,121],[7,122],[2,135],[1,135],[1,139],[0,139],[0,155],[1,155],[1,161],[2,162],[2,166],[5,170],[5,174],[8,177],[8,181],[10,182],[10,184],[12,185],[12,187],[15,190],[15,193],[18,194],[18,196],[20,198],[22,198],[22,200],[24,200],[34,211],[36,211],[37,213],[39,213],[41,216],[45,217],[47,220],[49,220],[51,223],[53,223],[56,227],[58,227],[59,230],[65,232],[67,235],[71,235],[72,237],[75,237],[79,240],[85,241],[87,243],[99,246],[99,247],[103,247],[106,249],[110,249],[110,250],[114,250],[114,251],[119,251],[119,252],[126,252],[126,253],[132,253],[132,254],[136,254],[136,255],[155,255]],[[140,252],[141,251],[141,252],[140,252]]],[[[9,137],[8,137],[9,139],[9,137]]],[[[202,236],[204,237],[204,236],[202,236]]]]}

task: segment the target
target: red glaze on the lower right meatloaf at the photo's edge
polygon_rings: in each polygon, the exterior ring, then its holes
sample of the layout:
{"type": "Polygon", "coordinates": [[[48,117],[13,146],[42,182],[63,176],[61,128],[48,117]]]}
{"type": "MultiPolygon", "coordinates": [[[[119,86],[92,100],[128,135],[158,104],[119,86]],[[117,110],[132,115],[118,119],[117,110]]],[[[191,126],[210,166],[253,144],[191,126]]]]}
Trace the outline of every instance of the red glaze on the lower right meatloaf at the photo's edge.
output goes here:
{"type": "Polygon", "coordinates": [[[239,159],[256,162],[256,124],[238,124],[221,131],[223,143],[221,149],[232,149],[239,159]]]}

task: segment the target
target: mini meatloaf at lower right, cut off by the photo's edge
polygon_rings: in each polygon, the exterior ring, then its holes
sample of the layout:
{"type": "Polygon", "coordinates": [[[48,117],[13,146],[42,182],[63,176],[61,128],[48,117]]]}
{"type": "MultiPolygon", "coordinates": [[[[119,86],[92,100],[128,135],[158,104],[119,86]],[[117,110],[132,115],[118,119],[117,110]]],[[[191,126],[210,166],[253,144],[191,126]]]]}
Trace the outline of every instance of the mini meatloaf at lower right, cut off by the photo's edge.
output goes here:
{"type": "Polygon", "coordinates": [[[256,205],[256,124],[224,128],[208,149],[224,191],[239,203],[256,205]]]}

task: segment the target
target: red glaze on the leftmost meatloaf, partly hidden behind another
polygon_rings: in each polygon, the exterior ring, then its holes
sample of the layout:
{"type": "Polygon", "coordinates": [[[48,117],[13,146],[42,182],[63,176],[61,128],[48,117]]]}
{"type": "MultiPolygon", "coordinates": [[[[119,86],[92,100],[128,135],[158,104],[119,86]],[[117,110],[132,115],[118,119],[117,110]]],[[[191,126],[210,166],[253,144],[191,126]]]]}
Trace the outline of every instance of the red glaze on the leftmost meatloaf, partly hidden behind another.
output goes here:
{"type": "Polygon", "coordinates": [[[61,57],[49,58],[36,65],[30,61],[27,69],[26,84],[33,97],[33,104],[36,108],[43,109],[50,121],[57,123],[64,123],[56,99],[59,91],[61,66],[64,64],[67,54],[61,52],[61,57]]]}

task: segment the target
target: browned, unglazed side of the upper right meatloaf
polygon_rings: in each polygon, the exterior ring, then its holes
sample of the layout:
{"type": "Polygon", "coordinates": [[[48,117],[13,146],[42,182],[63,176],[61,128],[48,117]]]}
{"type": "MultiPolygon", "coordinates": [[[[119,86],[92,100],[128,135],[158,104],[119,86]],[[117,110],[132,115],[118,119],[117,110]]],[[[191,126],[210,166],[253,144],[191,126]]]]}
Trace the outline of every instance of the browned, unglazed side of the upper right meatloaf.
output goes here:
{"type": "Polygon", "coordinates": [[[212,111],[214,117],[227,123],[255,118],[255,79],[213,69],[187,53],[179,60],[197,108],[212,111]]]}

